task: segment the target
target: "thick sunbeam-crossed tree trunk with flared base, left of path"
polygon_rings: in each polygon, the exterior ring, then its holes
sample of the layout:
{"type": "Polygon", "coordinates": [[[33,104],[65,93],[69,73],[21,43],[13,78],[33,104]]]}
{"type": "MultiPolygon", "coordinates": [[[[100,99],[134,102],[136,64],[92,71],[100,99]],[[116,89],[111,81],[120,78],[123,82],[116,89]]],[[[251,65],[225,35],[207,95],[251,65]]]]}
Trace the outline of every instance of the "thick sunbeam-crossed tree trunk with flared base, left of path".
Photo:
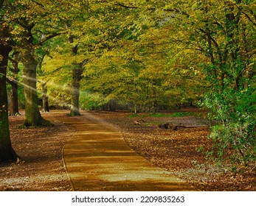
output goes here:
{"type": "Polygon", "coordinates": [[[33,49],[28,47],[23,54],[23,83],[25,96],[24,126],[49,126],[49,121],[41,117],[38,107],[38,90],[36,87],[36,68],[38,63],[33,53],[33,49]]]}

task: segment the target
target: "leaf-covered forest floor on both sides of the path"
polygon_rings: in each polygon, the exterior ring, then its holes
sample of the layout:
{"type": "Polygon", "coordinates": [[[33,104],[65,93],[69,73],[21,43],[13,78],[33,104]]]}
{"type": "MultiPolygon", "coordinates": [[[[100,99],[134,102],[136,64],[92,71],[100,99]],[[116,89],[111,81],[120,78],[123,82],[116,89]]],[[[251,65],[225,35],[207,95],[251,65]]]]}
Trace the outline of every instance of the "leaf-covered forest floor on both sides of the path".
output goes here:
{"type": "MultiPolygon", "coordinates": [[[[68,111],[54,113],[55,118],[68,111]]],[[[206,158],[212,143],[209,129],[198,110],[176,113],[132,115],[131,113],[89,112],[122,132],[128,146],[148,161],[187,180],[201,191],[256,191],[255,167],[217,166],[206,158]],[[134,121],[143,120],[136,125],[134,121]],[[162,129],[166,122],[190,128],[162,129]],[[196,126],[196,127],[193,127],[196,126]],[[199,126],[199,127],[198,127],[199,126]],[[202,126],[202,127],[200,127],[202,126]]],[[[51,113],[44,114],[51,116],[51,113]]],[[[83,118],[80,116],[78,118],[83,118]]],[[[24,116],[10,117],[13,148],[21,156],[17,163],[0,164],[0,191],[72,191],[63,165],[63,146],[75,135],[76,128],[54,122],[54,127],[18,129],[24,116]]]]}

